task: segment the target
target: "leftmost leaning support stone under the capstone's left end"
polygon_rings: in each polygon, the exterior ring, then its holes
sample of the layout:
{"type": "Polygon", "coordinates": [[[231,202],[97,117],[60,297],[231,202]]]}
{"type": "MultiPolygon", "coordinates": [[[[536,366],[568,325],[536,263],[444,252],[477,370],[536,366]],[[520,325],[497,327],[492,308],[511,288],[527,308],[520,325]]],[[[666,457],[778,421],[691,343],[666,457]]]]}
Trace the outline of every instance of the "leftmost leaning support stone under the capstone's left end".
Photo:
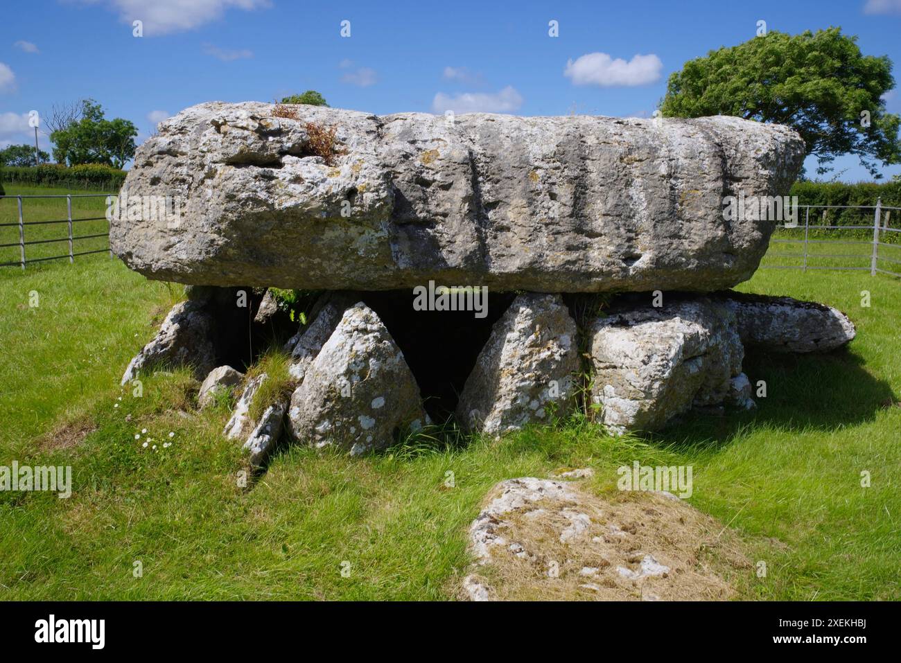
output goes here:
{"type": "Polygon", "coordinates": [[[197,379],[203,379],[216,365],[213,317],[204,305],[188,299],[173,306],[157,335],[125,368],[121,384],[138,377],[142,369],[163,365],[190,365],[197,379]]]}

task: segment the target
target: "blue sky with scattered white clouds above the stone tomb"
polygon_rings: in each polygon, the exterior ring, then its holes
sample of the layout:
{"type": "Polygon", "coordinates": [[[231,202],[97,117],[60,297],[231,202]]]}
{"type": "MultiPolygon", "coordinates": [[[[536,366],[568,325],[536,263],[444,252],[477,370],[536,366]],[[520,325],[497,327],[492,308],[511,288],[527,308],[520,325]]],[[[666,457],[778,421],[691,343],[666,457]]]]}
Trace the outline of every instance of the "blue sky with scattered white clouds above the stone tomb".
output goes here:
{"type": "MultiPolygon", "coordinates": [[[[132,120],[139,141],[192,104],[308,88],[332,106],[377,114],[647,116],[671,72],[751,39],[760,20],[790,33],[838,25],[865,54],[901,63],[901,0],[31,0],[7,5],[0,24],[0,146],[33,141],[30,110],[85,96],[132,120]]],[[[887,107],[901,113],[901,92],[887,107]]],[[[857,159],[837,159],[836,171],[845,168],[844,180],[869,179],[857,159]]]]}

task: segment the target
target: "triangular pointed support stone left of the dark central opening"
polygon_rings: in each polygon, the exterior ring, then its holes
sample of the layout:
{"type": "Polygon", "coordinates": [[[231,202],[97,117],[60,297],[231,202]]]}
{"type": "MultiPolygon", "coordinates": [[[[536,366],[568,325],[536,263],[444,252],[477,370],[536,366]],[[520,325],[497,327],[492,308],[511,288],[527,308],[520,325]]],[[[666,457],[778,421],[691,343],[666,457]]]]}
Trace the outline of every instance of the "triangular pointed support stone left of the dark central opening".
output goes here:
{"type": "MultiPolygon", "coordinates": [[[[303,338],[303,337],[302,337],[303,338]]],[[[427,421],[419,386],[385,325],[359,302],[347,309],[291,396],[288,430],[317,449],[359,455],[427,421]]]]}

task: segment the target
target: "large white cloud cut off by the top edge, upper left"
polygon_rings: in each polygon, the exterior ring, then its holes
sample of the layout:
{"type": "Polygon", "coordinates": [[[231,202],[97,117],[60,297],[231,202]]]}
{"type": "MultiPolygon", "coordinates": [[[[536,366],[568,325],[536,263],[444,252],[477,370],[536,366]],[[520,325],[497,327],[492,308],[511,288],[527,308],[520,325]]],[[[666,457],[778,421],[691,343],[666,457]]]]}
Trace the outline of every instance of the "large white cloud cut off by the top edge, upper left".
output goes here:
{"type": "Polygon", "coordinates": [[[226,9],[245,11],[268,7],[269,0],[82,0],[86,5],[102,3],[119,14],[119,20],[143,22],[145,37],[193,30],[221,18],[226,9]]]}

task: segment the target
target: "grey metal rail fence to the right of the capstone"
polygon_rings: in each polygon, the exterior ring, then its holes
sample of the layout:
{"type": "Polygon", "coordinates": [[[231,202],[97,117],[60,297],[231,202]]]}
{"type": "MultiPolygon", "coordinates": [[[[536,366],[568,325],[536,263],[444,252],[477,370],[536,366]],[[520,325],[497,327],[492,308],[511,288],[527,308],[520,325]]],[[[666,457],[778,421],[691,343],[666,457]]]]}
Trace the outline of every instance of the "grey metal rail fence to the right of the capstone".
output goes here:
{"type": "Polygon", "coordinates": [[[898,219],[901,217],[901,207],[889,207],[887,205],[883,205],[881,199],[877,201],[875,205],[839,205],[839,204],[823,204],[823,205],[798,205],[799,210],[804,210],[804,223],[797,223],[795,225],[786,225],[785,223],[778,224],[777,228],[783,231],[803,231],[803,237],[799,237],[797,239],[785,239],[784,237],[775,237],[771,239],[770,244],[801,244],[803,246],[803,253],[788,253],[777,251],[775,253],[770,253],[765,258],[794,258],[800,259],[800,264],[797,265],[760,265],[761,269],[801,269],[802,271],[807,271],[808,269],[837,269],[837,270],[845,270],[845,271],[869,271],[870,275],[876,276],[877,274],[886,274],[891,277],[901,277],[901,272],[892,271],[891,269],[882,268],[879,266],[880,262],[891,263],[893,265],[901,265],[901,236],[892,233],[901,232],[901,228],[892,228],[889,226],[891,216],[894,213],[895,218],[898,219]],[[823,210],[822,218],[825,220],[826,214],[829,210],[861,210],[868,211],[872,210],[873,214],[873,223],[869,223],[867,225],[837,225],[837,224],[828,224],[828,223],[810,223],[810,211],[811,210],[823,210]],[[872,238],[868,240],[862,239],[842,239],[840,236],[839,239],[813,239],[811,237],[811,232],[814,232],[817,236],[821,235],[821,231],[834,231],[836,234],[841,231],[853,231],[858,234],[862,231],[872,231],[872,238]],[[884,234],[885,233],[885,234],[884,234]],[[893,241],[884,241],[887,239],[891,239],[893,241]],[[830,244],[830,245],[842,245],[842,246],[869,246],[871,250],[867,253],[817,253],[812,252],[812,245],[821,245],[821,244],[830,244]],[[890,247],[892,249],[898,250],[893,257],[888,257],[886,255],[886,251],[880,252],[879,248],[887,248],[890,247]],[[840,265],[811,265],[810,261],[812,259],[866,259],[869,262],[869,265],[860,265],[860,266],[840,266],[840,265]]]}

